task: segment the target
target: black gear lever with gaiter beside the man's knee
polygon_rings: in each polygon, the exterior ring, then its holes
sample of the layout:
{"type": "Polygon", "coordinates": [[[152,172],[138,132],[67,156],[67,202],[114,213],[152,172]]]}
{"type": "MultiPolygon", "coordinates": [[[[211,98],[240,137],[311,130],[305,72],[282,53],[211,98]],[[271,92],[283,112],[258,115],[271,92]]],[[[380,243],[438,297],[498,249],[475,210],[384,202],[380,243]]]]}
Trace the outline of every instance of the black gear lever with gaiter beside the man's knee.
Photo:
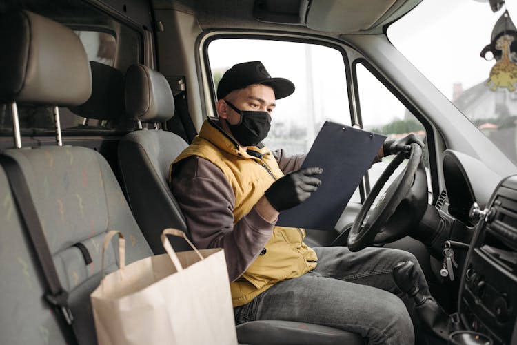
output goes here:
{"type": "Polygon", "coordinates": [[[411,261],[398,262],[393,269],[393,278],[398,289],[407,293],[415,302],[415,311],[423,326],[435,337],[447,341],[449,337],[449,315],[436,300],[424,295],[418,287],[418,273],[411,261]]]}

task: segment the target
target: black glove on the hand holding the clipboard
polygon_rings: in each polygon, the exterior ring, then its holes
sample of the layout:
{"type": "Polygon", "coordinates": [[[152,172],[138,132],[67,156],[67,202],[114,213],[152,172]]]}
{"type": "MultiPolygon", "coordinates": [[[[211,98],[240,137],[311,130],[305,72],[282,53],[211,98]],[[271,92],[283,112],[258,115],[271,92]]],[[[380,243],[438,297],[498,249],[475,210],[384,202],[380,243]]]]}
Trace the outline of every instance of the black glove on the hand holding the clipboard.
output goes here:
{"type": "Polygon", "coordinates": [[[320,167],[310,167],[283,176],[276,180],[267,191],[265,197],[276,211],[290,209],[307,200],[313,191],[321,185],[321,180],[312,177],[321,174],[320,167]]]}

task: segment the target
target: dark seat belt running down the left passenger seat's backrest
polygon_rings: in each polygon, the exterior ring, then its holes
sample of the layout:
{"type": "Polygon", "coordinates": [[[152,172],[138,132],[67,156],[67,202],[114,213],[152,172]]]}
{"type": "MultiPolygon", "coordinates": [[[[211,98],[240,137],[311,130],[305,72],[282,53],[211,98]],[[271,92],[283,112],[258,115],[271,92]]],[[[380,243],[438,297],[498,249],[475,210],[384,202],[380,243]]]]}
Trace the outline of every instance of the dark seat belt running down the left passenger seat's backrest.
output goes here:
{"type": "Polygon", "coordinates": [[[74,333],[72,322],[74,317],[72,311],[68,307],[68,292],[63,289],[59,277],[57,275],[47,240],[43,234],[43,228],[39,222],[36,207],[30,196],[27,181],[23,176],[17,161],[10,156],[0,156],[0,165],[6,171],[14,202],[16,203],[21,219],[27,229],[27,236],[32,243],[34,252],[37,255],[41,271],[47,283],[48,293],[45,294],[45,300],[52,306],[54,312],[59,318],[59,327],[68,344],[78,344],[77,337],[74,333]]]}

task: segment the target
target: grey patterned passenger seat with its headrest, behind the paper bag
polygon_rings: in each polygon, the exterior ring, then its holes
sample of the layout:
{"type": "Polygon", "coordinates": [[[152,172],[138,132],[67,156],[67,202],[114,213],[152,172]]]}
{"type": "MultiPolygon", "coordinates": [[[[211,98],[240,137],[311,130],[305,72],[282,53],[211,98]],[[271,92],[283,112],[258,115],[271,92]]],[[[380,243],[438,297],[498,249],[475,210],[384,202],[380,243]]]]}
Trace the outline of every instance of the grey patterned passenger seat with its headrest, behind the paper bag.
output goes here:
{"type": "MultiPolygon", "coordinates": [[[[90,66],[72,30],[30,12],[9,13],[0,18],[0,43],[10,51],[28,52],[0,57],[0,75],[8,79],[1,81],[0,101],[77,106],[90,96],[90,66]],[[12,41],[12,36],[19,39],[12,41]],[[8,72],[13,70],[17,73],[8,72]],[[56,83],[64,83],[65,92],[56,83]]],[[[128,262],[152,255],[113,171],[99,153],[84,147],[8,149],[3,154],[17,161],[26,178],[59,280],[69,293],[79,344],[96,344],[90,293],[101,280],[105,233],[118,230],[128,239],[128,262]],[[92,263],[86,264],[77,243],[92,263]]],[[[0,198],[0,344],[65,344],[44,300],[39,262],[1,167],[0,198]]],[[[108,247],[108,272],[116,269],[116,253],[108,247]]]]}

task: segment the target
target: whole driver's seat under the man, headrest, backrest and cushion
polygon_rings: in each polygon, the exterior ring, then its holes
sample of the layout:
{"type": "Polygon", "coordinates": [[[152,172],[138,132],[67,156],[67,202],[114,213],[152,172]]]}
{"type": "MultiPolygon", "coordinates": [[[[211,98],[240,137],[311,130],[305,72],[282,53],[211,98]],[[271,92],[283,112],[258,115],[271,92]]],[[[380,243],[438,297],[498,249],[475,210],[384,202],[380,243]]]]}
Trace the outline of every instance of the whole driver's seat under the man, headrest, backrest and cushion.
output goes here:
{"type": "MultiPolygon", "coordinates": [[[[135,121],[162,123],[174,114],[174,98],[167,80],[144,65],[132,65],[126,73],[125,106],[126,114],[135,121]]],[[[153,243],[154,238],[159,239],[163,227],[187,231],[167,182],[170,163],[185,147],[187,143],[182,138],[161,129],[137,130],[126,135],[119,145],[119,163],[128,199],[155,254],[163,252],[161,243],[153,243]]],[[[365,344],[365,339],[357,333],[277,320],[239,324],[237,337],[240,344],[249,345],[365,344]]]]}

